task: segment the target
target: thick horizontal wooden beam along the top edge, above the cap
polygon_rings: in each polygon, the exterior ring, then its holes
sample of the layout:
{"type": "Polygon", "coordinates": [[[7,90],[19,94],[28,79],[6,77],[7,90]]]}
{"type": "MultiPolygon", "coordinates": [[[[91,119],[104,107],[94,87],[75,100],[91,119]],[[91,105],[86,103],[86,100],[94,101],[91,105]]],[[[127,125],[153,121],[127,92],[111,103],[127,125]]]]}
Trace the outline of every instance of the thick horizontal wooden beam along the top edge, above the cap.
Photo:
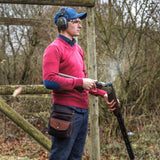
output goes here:
{"type": "Polygon", "coordinates": [[[0,3],[93,7],[95,0],[0,0],[0,3]]]}

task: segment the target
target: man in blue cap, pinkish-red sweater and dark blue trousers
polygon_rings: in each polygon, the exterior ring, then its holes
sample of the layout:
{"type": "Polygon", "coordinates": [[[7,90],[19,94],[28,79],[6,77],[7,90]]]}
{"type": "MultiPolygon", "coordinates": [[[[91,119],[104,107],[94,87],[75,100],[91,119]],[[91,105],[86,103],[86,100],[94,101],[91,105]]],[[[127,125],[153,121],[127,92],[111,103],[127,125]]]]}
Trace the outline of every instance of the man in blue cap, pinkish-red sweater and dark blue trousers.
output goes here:
{"type": "Polygon", "coordinates": [[[96,88],[95,80],[87,78],[83,50],[73,38],[79,36],[81,20],[86,16],[86,12],[78,14],[73,8],[61,8],[54,16],[59,35],[44,52],[43,82],[53,90],[52,107],[58,104],[75,111],[71,137],[52,137],[50,160],[81,160],[88,128],[89,93],[104,97],[109,109],[114,110],[115,102],[109,103],[107,93],[96,88]],[[59,73],[76,78],[65,78],[59,73]],[[79,87],[83,91],[78,91],[79,87]]]}

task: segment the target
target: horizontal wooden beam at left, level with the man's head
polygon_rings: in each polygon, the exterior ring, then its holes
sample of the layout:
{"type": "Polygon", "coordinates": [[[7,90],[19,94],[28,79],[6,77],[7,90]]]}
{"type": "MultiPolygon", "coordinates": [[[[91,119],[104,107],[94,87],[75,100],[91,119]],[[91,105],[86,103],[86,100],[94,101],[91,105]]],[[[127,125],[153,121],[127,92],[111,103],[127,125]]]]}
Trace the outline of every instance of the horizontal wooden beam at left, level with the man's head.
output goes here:
{"type": "Polygon", "coordinates": [[[50,20],[0,17],[0,25],[39,26],[43,25],[44,23],[50,23],[50,20]]]}

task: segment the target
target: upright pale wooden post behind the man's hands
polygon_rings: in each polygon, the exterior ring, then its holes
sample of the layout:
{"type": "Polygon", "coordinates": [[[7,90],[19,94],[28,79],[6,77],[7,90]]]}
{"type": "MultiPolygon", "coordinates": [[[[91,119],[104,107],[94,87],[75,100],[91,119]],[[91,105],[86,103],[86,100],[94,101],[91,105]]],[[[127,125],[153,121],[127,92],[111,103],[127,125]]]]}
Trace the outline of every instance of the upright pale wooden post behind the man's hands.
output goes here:
{"type": "MultiPolygon", "coordinates": [[[[97,79],[94,8],[87,8],[88,77],[97,79]]],[[[98,98],[90,96],[91,159],[100,160],[98,98]]]]}

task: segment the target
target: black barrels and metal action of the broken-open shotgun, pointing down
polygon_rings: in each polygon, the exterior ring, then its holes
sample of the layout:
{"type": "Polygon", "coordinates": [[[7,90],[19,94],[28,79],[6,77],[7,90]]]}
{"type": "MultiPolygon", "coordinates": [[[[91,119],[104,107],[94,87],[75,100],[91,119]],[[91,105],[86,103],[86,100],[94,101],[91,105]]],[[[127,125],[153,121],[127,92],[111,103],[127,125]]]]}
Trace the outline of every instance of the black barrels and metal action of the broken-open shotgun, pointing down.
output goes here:
{"type": "Polygon", "coordinates": [[[134,153],[133,153],[133,150],[132,150],[132,147],[131,147],[131,144],[130,144],[130,141],[129,141],[129,138],[128,138],[128,135],[127,135],[127,132],[126,132],[126,128],[124,126],[124,121],[123,121],[123,118],[122,118],[122,114],[121,114],[121,111],[120,111],[120,108],[119,108],[119,105],[118,105],[118,101],[117,101],[117,98],[116,98],[116,93],[115,93],[115,90],[114,90],[114,87],[113,87],[112,83],[111,82],[108,82],[108,83],[96,82],[96,86],[99,89],[107,91],[109,102],[111,102],[113,99],[116,102],[116,104],[114,106],[116,109],[113,111],[113,113],[117,117],[119,127],[121,129],[121,133],[123,135],[123,140],[125,141],[130,160],[134,160],[134,153]]]}

